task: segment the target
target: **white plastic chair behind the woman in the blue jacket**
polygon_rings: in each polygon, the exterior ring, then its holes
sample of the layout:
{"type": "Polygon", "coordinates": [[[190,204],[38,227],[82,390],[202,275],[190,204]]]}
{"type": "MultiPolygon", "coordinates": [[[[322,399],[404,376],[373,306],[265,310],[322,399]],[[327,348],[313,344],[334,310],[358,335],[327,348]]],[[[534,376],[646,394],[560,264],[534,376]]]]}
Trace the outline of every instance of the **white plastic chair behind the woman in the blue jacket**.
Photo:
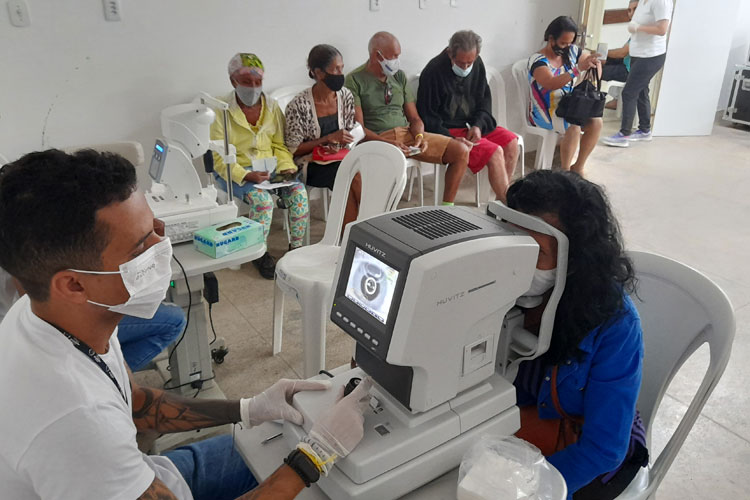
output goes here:
{"type": "Polygon", "coordinates": [[[704,343],[710,361],[695,397],[669,442],[641,469],[620,500],[653,498],[729,362],[735,321],[732,304],[711,280],[684,264],[647,252],[630,252],[639,280],[633,301],[643,327],[643,382],[638,409],[651,447],[654,417],[670,381],[704,343]],[[640,298],[639,298],[640,297],[640,298]]]}

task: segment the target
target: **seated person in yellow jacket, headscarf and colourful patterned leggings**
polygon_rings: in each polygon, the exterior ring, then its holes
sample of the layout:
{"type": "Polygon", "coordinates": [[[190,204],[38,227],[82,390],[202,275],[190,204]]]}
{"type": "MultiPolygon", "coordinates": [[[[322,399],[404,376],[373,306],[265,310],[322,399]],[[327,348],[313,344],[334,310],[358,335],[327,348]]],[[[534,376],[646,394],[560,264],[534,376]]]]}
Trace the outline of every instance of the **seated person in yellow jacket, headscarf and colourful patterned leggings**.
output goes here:
{"type": "MultiPolygon", "coordinates": [[[[268,239],[273,198],[264,184],[285,181],[274,191],[280,205],[289,211],[289,249],[301,247],[307,230],[309,209],[305,186],[296,180],[297,166],[284,144],[284,115],[275,101],[263,94],[263,63],[255,54],[236,54],[229,61],[229,80],[234,92],[223,100],[229,104],[229,142],[237,148],[237,162],[230,165],[232,191],[250,205],[250,218],[263,225],[268,239]]],[[[211,139],[224,138],[222,114],[211,125],[211,139]]],[[[214,153],[214,175],[221,189],[227,188],[227,168],[214,153]]],[[[276,263],[268,252],[253,264],[266,279],[274,278],[276,263]]]]}

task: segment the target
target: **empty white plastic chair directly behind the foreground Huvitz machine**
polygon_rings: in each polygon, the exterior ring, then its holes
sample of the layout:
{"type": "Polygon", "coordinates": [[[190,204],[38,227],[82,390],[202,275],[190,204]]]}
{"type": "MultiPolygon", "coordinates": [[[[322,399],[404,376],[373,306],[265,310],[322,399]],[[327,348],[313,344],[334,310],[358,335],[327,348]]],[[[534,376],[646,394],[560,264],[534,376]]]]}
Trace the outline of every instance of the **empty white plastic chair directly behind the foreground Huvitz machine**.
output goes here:
{"type": "Polygon", "coordinates": [[[292,250],[276,263],[273,302],[273,354],[281,351],[284,294],[302,306],[304,377],[325,367],[326,318],[346,200],[354,176],[362,176],[358,220],[394,210],[406,187],[406,158],[390,144],[372,141],[355,147],[339,166],[331,198],[330,218],[320,243],[292,250]]]}

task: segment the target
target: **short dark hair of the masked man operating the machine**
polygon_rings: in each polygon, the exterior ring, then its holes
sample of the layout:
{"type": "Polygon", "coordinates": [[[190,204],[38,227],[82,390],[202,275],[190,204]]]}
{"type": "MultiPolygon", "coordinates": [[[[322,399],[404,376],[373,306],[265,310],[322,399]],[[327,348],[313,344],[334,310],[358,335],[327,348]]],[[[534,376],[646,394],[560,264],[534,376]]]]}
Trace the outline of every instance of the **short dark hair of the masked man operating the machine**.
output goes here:
{"type": "Polygon", "coordinates": [[[49,298],[52,276],[64,269],[97,270],[109,227],[97,210],[127,200],[135,168],[113,153],[51,149],[0,170],[0,267],[34,300],[49,298]]]}

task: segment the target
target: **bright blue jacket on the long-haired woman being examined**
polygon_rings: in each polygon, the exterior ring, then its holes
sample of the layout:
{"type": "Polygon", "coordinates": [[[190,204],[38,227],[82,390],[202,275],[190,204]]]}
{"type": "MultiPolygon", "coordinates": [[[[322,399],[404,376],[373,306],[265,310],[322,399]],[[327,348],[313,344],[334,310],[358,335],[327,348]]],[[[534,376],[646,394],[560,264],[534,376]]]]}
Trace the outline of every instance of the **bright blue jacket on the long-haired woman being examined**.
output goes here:
{"type": "MultiPolygon", "coordinates": [[[[618,316],[592,330],[578,347],[582,358],[558,368],[557,391],[566,413],[583,416],[582,433],[577,443],[547,457],[565,478],[568,498],[619,467],[628,451],[643,365],[643,332],[630,297],[625,296],[618,316]]],[[[536,404],[541,418],[560,418],[550,376],[547,368],[536,404]]],[[[534,404],[523,390],[517,394],[519,405],[534,404]]]]}

